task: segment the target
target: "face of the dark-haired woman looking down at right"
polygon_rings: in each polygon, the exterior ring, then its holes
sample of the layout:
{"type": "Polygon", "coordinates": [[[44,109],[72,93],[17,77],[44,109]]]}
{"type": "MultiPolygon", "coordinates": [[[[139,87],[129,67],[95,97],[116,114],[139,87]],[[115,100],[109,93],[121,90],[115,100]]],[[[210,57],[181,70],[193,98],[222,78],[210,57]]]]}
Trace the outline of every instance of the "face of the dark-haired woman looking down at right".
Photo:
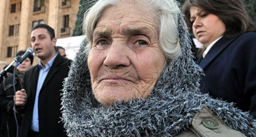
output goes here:
{"type": "Polygon", "coordinates": [[[193,34],[204,46],[208,46],[226,31],[225,24],[217,15],[207,13],[199,7],[190,8],[193,34]]]}

